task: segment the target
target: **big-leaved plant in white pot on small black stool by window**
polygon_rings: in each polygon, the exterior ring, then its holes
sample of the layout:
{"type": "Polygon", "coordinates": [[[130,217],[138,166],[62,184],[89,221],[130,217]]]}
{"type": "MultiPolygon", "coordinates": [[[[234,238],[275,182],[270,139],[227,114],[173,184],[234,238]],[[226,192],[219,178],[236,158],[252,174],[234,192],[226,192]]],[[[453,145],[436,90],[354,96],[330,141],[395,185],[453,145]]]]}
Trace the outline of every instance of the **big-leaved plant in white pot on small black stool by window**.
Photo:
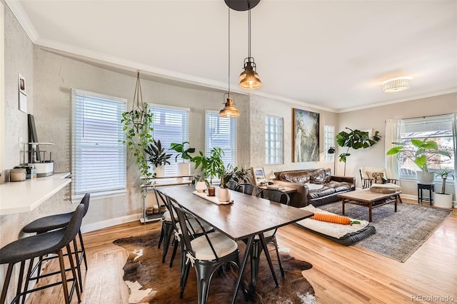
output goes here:
{"type": "Polygon", "coordinates": [[[403,156],[411,159],[413,163],[421,169],[416,171],[418,183],[430,184],[435,179],[433,172],[428,172],[428,162],[441,160],[436,159],[437,156],[447,156],[451,158],[451,154],[448,151],[440,150],[436,141],[429,141],[428,138],[411,139],[411,143],[393,143],[397,145],[387,151],[387,155],[396,155],[401,153],[403,156]]]}

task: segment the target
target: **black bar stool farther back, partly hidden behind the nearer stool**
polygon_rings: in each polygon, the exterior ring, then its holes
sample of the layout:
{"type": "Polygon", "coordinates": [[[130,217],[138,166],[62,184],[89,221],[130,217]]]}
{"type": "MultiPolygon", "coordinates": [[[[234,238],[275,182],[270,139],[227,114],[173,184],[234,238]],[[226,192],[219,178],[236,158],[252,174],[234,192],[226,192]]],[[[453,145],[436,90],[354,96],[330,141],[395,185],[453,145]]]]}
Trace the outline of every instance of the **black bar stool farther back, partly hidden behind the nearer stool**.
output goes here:
{"type": "MultiPolygon", "coordinates": [[[[84,195],[84,197],[81,199],[80,204],[84,206],[83,217],[86,216],[86,213],[89,210],[90,199],[91,199],[90,193],[86,193],[84,195]]],[[[64,227],[68,226],[72,216],[73,216],[73,212],[69,212],[69,213],[54,214],[52,216],[45,216],[43,218],[38,218],[35,221],[24,226],[24,228],[22,228],[22,231],[24,233],[41,234],[41,233],[46,233],[51,230],[64,228],[64,227]]],[[[78,247],[76,245],[76,238],[73,240],[73,247],[74,247],[74,254],[76,256],[76,261],[77,261],[76,270],[78,272],[78,277],[79,277],[79,290],[81,290],[81,293],[82,293],[83,292],[83,282],[82,282],[82,278],[81,278],[81,263],[82,263],[82,260],[84,260],[84,265],[86,266],[86,270],[87,270],[87,260],[86,260],[86,249],[84,248],[84,242],[83,242],[83,237],[81,235],[81,230],[78,231],[78,235],[79,235],[79,243],[81,244],[81,250],[78,250],[78,247]],[[79,253],[81,253],[81,256],[79,256],[79,253]]],[[[34,273],[35,270],[38,269],[38,274],[39,274],[39,271],[41,270],[41,263],[44,260],[49,260],[52,258],[57,258],[57,257],[54,256],[51,258],[40,258],[38,263],[34,267],[34,269],[31,270],[31,273],[34,273]]],[[[38,278],[37,278],[37,281],[38,281],[38,278]]]]}

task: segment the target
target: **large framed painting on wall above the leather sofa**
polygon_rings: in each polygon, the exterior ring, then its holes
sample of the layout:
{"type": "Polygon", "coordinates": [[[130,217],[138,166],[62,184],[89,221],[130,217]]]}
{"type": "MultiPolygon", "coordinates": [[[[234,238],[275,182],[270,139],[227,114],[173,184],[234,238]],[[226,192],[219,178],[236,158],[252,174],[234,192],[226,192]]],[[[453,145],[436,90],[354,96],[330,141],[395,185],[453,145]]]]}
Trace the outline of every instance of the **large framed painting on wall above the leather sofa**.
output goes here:
{"type": "Polygon", "coordinates": [[[292,161],[319,161],[319,113],[292,109],[292,161]]]}

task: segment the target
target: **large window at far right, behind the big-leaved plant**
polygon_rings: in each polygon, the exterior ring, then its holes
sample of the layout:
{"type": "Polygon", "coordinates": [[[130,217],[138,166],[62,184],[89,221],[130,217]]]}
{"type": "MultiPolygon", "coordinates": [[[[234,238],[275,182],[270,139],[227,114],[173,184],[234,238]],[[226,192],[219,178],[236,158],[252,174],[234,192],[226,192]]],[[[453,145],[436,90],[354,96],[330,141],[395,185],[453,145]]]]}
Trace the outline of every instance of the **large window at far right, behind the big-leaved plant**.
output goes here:
{"type": "MultiPolygon", "coordinates": [[[[440,168],[446,168],[455,174],[452,133],[452,115],[428,116],[421,118],[403,119],[400,127],[400,141],[411,144],[411,138],[424,139],[430,138],[438,143],[438,148],[451,153],[451,159],[446,156],[433,156],[428,161],[428,171],[437,172],[440,168]]],[[[413,161],[406,156],[398,157],[398,173],[400,178],[415,178],[418,171],[413,161]]]]}

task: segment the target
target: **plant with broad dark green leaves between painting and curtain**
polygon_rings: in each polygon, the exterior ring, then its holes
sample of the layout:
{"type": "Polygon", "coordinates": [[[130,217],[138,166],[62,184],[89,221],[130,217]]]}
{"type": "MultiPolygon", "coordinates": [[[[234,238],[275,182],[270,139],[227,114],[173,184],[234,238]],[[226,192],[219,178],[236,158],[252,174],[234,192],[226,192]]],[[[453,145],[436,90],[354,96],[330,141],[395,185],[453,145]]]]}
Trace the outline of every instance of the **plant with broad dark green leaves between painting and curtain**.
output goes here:
{"type": "Polygon", "coordinates": [[[369,133],[366,131],[347,129],[351,132],[341,131],[336,135],[336,143],[338,143],[338,146],[347,148],[345,153],[338,155],[339,161],[344,163],[344,176],[346,176],[346,158],[351,156],[351,153],[348,153],[349,148],[355,150],[358,148],[368,148],[381,140],[379,131],[376,131],[374,135],[370,137],[369,133]]]}

